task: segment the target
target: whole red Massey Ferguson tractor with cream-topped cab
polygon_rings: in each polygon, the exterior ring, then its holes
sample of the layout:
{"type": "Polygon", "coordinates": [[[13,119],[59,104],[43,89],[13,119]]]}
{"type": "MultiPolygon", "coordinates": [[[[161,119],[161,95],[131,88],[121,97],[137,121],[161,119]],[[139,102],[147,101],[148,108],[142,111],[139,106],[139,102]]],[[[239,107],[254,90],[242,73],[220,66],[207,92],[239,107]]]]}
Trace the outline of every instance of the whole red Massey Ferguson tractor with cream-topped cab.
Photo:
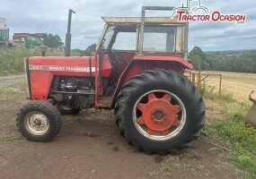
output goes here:
{"type": "Polygon", "coordinates": [[[183,76],[188,63],[188,23],[176,17],[102,17],[92,56],[25,59],[27,97],[17,127],[30,141],[50,141],[61,115],[114,109],[120,134],[147,154],[189,147],[205,123],[199,90],[183,76]],[[60,115],[61,114],[61,115],[60,115]]]}

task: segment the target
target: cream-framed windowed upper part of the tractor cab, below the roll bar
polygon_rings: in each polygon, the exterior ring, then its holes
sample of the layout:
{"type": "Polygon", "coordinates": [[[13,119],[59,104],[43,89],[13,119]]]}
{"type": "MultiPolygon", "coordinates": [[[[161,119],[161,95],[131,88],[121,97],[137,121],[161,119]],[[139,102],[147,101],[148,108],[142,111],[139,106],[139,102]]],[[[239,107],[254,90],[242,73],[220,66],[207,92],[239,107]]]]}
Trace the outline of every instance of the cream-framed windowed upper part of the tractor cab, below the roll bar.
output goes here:
{"type": "Polygon", "coordinates": [[[96,48],[98,51],[183,57],[187,53],[186,23],[174,18],[146,18],[143,31],[138,17],[102,17],[102,20],[106,25],[96,48]]]}

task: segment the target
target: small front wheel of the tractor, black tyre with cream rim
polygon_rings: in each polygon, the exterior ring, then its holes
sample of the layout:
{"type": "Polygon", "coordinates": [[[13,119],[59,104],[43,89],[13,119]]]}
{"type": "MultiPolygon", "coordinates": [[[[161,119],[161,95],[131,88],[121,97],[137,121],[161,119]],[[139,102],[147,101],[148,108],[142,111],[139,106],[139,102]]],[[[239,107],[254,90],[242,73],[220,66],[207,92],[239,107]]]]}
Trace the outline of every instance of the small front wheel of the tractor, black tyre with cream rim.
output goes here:
{"type": "Polygon", "coordinates": [[[48,101],[35,100],[21,108],[16,125],[30,141],[50,141],[60,130],[61,115],[48,101]]]}

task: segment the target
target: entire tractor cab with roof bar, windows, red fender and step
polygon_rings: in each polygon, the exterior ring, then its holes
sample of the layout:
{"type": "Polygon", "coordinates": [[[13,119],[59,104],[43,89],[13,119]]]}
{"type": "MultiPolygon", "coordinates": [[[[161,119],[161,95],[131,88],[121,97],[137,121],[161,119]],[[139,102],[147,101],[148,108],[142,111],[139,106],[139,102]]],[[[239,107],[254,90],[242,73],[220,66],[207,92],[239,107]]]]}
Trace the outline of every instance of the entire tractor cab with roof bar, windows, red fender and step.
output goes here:
{"type": "Polygon", "coordinates": [[[102,17],[105,26],[95,58],[100,68],[110,64],[111,72],[110,78],[102,78],[101,70],[96,76],[102,81],[97,90],[100,98],[96,98],[101,107],[113,107],[119,88],[137,72],[171,68],[182,73],[185,67],[192,68],[186,62],[188,23],[172,17],[145,17],[146,10],[171,9],[143,7],[142,17],[102,17]]]}

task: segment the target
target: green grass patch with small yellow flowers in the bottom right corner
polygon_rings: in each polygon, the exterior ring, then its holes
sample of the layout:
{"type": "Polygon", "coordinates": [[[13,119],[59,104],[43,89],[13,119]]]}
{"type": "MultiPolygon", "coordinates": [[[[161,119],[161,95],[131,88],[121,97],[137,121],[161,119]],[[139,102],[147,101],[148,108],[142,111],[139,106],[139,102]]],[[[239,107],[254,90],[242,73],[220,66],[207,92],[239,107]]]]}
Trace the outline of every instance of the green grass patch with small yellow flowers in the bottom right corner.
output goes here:
{"type": "Polygon", "coordinates": [[[237,112],[211,126],[232,147],[230,158],[247,178],[256,178],[256,131],[237,112]]]}

